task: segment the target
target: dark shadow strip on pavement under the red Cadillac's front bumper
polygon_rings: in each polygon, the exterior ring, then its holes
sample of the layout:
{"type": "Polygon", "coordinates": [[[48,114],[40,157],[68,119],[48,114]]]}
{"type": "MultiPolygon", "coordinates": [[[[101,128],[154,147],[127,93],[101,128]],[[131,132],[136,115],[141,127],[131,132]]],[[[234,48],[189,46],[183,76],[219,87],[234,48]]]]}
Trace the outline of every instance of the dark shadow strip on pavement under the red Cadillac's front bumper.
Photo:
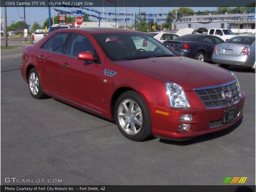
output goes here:
{"type": "Polygon", "coordinates": [[[234,131],[242,123],[242,121],[243,121],[243,117],[239,121],[237,121],[235,124],[233,124],[231,127],[228,127],[227,129],[224,129],[224,130],[221,130],[218,132],[201,135],[201,136],[192,138],[190,140],[176,141],[176,140],[160,139],[159,142],[165,143],[165,144],[171,144],[171,145],[185,146],[185,145],[192,145],[195,143],[201,143],[201,142],[208,141],[208,140],[213,140],[213,139],[225,136],[225,135],[229,134],[230,132],[234,131]]]}

